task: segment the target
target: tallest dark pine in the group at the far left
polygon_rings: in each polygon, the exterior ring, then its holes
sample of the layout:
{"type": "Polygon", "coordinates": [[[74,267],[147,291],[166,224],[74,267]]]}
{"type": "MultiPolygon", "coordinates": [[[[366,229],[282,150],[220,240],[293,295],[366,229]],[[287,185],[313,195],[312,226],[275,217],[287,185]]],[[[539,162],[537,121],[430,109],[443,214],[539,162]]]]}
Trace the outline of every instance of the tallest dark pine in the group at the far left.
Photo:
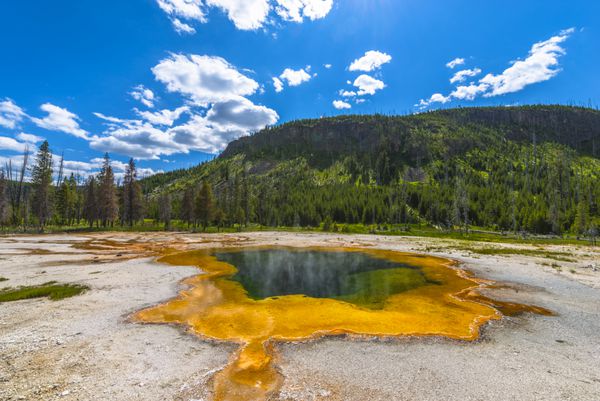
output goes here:
{"type": "Polygon", "coordinates": [[[41,230],[46,226],[52,212],[52,153],[48,141],[44,141],[38,150],[31,172],[31,184],[34,189],[32,211],[41,230]]]}

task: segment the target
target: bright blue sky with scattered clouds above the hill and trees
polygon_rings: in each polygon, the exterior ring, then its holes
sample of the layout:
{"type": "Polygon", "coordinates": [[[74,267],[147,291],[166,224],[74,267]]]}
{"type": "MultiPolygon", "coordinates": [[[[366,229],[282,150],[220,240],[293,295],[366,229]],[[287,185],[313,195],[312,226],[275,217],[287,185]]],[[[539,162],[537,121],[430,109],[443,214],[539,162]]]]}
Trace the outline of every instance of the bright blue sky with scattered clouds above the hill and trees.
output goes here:
{"type": "Polygon", "coordinates": [[[592,0],[7,1],[0,162],[46,138],[69,171],[108,151],[151,174],[298,118],[597,106],[599,15],[592,0]]]}

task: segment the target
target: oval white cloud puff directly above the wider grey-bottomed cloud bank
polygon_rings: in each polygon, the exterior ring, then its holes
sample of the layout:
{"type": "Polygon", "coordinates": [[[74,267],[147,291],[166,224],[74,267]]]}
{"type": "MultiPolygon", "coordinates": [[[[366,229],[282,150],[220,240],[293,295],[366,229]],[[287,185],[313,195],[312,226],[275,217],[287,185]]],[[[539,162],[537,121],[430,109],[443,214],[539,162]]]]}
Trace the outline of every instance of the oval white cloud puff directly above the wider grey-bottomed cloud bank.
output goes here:
{"type": "Polygon", "coordinates": [[[170,92],[187,96],[206,107],[254,94],[259,85],[220,57],[173,54],[152,69],[170,92]]]}

